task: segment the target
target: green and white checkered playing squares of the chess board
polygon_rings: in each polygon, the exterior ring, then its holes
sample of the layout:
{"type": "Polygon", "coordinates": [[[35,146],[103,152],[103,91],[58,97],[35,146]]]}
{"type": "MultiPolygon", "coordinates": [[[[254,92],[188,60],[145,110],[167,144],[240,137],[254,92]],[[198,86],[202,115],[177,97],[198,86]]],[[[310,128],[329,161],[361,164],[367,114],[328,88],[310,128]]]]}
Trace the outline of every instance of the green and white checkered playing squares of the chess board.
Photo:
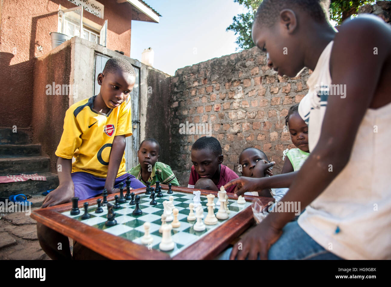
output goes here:
{"type": "MultiPolygon", "coordinates": [[[[124,237],[129,241],[133,241],[137,244],[141,244],[141,237],[144,235],[144,227],[143,224],[145,222],[149,222],[151,227],[149,232],[153,238],[152,244],[148,246],[148,248],[153,248],[159,250],[159,243],[161,242],[161,233],[159,233],[159,228],[161,226],[161,214],[163,214],[163,201],[169,200],[169,197],[174,196],[174,206],[179,210],[178,220],[181,222],[181,226],[178,228],[172,228],[171,235],[172,239],[175,243],[174,250],[168,251],[171,257],[178,254],[181,250],[187,248],[198,239],[203,237],[204,235],[212,232],[217,226],[220,226],[236,214],[242,211],[246,207],[248,207],[251,203],[246,202],[246,204],[237,204],[236,200],[228,200],[228,208],[230,210],[230,214],[228,214],[228,219],[226,220],[218,220],[216,225],[206,225],[206,230],[198,232],[193,229],[193,225],[195,221],[188,221],[187,216],[190,212],[189,204],[194,203],[193,194],[189,193],[181,193],[174,191],[173,194],[167,194],[166,190],[162,190],[163,197],[155,198],[158,202],[157,205],[149,205],[151,199],[149,195],[140,194],[140,209],[142,210],[142,214],[134,216],[132,214],[136,205],[129,205],[129,201],[126,203],[120,204],[120,209],[115,209],[114,212],[116,214],[115,220],[117,220],[117,225],[115,226],[106,226],[105,222],[107,221],[107,207],[103,206],[102,213],[95,213],[97,209],[97,205],[92,205],[88,208],[88,212],[91,215],[91,218],[81,220],[81,216],[84,214],[84,209],[80,209],[80,214],[71,216],[70,211],[63,212],[62,214],[72,217],[78,221],[81,221],[89,226],[93,226],[99,229],[104,230],[113,235],[124,237]]],[[[204,209],[204,217],[208,214],[208,208],[206,207],[206,203],[208,199],[206,196],[201,196],[201,205],[204,209]]],[[[217,202],[217,197],[214,202],[217,202]]],[[[218,211],[217,206],[215,206],[214,213],[216,214],[218,211]]]]}

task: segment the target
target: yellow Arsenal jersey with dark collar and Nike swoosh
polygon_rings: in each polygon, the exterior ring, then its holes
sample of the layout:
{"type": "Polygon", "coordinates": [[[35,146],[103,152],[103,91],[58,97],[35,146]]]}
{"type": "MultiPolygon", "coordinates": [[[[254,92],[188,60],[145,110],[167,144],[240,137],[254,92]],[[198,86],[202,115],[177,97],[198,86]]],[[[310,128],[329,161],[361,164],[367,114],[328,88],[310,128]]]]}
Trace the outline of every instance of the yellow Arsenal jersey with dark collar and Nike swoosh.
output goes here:
{"type": "MultiPolygon", "coordinates": [[[[116,135],[132,135],[130,96],[108,114],[94,111],[95,96],[74,103],[65,113],[64,131],[56,155],[72,159],[72,172],[84,171],[106,178],[111,146],[116,135]]],[[[118,176],[126,173],[125,152],[118,176]]]]}

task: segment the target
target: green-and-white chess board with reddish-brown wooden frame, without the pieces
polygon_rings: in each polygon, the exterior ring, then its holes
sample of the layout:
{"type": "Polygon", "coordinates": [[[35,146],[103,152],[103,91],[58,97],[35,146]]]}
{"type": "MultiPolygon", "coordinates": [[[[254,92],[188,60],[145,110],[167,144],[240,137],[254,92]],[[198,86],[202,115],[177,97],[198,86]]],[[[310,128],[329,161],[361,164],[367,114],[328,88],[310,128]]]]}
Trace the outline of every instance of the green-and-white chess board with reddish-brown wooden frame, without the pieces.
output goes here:
{"type": "MultiPolygon", "coordinates": [[[[235,239],[253,223],[251,200],[255,196],[246,196],[246,203],[238,204],[236,198],[228,194],[228,209],[230,210],[228,219],[219,219],[216,225],[206,225],[206,230],[201,232],[195,231],[193,229],[195,221],[187,220],[190,212],[189,203],[193,203],[194,195],[192,192],[194,189],[172,187],[174,193],[167,194],[167,186],[161,186],[163,197],[155,198],[158,202],[157,205],[149,204],[151,199],[149,198],[150,195],[145,194],[145,188],[133,191],[140,196],[142,214],[134,216],[132,212],[135,209],[135,205],[129,205],[129,201],[122,203],[119,209],[114,210],[116,214],[115,220],[117,221],[115,226],[105,225],[107,221],[106,206],[103,206],[104,212],[95,213],[97,198],[79,201],[80,214],[75,216],[70,215],[71,203],[57,208],[49,207],[47,209],[34,210],[31,216],[55,230],[57,227],[56,223],[58,225],[61,222],[64,235],[74,238],[88,248],[111,259],[213,258],[228,246],[230,240],[235,239]],[[161,242],[162,234],[159,232],[159,228],[161,226],[161,215],[163,214],[163,201],[169,200],[171,195],[174,197],[174,207],[179,210],[178,220],[181,225],[171,230],[172,239],[175,243],[174,249],[160,251],[159,243],[161,242]],[[84,214],[83,203],[85,201],[89,202],[88,213],[91,217],[82,220],[81,217],[84,214]],[[45,220],[43,220],[43,217],[45,217],[45,220]],[[153,238],[152,244],[148,245],[141,243],[141,237],[144,235],[143,224],[145,222],[150,223],[150,234],[153,238]],[[64,225],[66,225],[68,232],[64,232],[64,225]],[[99,242],[102,245],[99,246],[99,242]],[[108,246],[110,245],[109,243],[113,246],[108,246]],[[109,253],[105,252],[106,248],[114,250],[109,253]],[[124,250],[129,252],[130,258],[126,255],[124,256],[124,250]]],[[[210,193],[216,196],[214,202],[217,203],[217,192],[201,191],[201,205],[204,209],[203,219],[208,214],[206,195],[210,193]]],[[[108,197],[110,203],[114,203],[113,197],[114,194],[108,197]]],[[[215,214],[218,209],[219,206],[215,206],[215,214]]]]}

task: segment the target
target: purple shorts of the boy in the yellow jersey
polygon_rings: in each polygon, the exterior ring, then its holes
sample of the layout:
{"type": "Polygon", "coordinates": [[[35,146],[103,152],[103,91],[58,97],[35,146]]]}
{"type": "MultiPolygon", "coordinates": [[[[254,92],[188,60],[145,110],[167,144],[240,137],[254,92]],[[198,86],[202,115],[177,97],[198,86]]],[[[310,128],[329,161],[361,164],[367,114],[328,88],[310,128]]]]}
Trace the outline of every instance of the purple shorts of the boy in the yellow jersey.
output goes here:
{"type": "MultiPolygon", "coordinates": [[[[83,171],[77,171],[71,173],[72,180],[75,186],[75,196],[79,198],[79,200],[84,200],[87,198],[95,197],[103,192],[104,184],[106,182],[106,178],[100,178],[91,175],[90,173],[85,173],[83,171]]],[[[124,183],[124,190],[126,191],[126,178],[129,176],[131,180],[130,186],[133,189],[138,189],[141,187],[145,187],[140,180],[135,178],[134,175],[129,173],[125,173],[124,175],[118,176],[115,179],[114,188],[119,188],[120,182],[124,183]]]]}

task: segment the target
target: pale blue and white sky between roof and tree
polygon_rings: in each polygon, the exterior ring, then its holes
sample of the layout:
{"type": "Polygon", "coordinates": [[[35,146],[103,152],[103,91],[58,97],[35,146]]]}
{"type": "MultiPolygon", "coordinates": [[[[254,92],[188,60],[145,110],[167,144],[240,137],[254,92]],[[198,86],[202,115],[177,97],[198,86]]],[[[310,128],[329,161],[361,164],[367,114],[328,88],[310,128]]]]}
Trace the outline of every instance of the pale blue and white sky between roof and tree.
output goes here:
{"type": "Polygon", "coordinates": [[[235,32],[226,28],[246,9],[233,0],[145,0],[160,23],[132,21],[130,57],[141,61],[154,50],[153,67],[167,74],[185,66],[239,52],[235,32]]]}

